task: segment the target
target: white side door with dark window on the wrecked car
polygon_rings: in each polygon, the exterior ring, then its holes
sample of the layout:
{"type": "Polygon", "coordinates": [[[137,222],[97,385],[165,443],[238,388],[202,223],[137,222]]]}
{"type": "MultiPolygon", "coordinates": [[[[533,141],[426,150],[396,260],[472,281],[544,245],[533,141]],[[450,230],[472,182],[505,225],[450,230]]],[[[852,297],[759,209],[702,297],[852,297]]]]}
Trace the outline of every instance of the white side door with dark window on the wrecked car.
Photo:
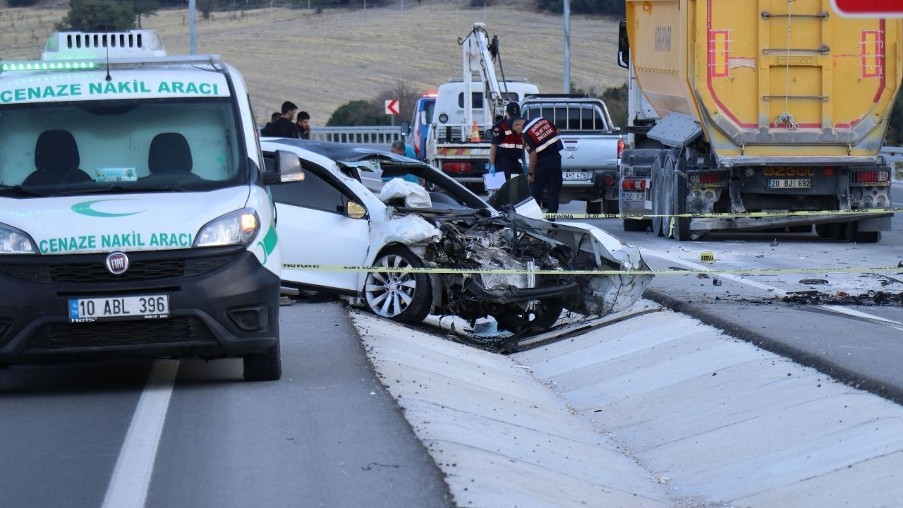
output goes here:
{"type": "MultiPolygon", "coordinates": [[[[267,165],[272,154],[266,154],[267,165]]],[[[361,266],[369,249],[369,221],[348,216],[348,189],[319,166],[302,162],[303,180],[270,187],[286,283],[299,287],[358,290],[358,273],[303,269],[303,265],[361,266]]]]}

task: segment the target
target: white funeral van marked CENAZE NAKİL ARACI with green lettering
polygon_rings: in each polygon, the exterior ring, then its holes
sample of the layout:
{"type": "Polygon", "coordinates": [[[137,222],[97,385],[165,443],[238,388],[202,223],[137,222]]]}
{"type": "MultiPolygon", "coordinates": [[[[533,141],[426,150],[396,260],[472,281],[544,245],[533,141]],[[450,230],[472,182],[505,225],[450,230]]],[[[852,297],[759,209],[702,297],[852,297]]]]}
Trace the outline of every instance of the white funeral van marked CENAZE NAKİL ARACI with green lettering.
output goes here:
{"type": "Polygon", "coordinates": [[[157,33],[0,62],[0,365],[244,358],[275,380],[282,258],[241,75],[157,33]]]}

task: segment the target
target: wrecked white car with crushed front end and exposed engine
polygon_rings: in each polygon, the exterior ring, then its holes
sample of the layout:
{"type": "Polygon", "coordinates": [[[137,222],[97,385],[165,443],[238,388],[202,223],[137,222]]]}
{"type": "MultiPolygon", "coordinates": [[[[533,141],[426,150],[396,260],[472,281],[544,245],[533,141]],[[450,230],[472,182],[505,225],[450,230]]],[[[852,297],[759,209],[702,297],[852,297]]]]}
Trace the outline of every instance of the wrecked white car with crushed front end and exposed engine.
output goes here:
{"type": "MultiPolygon", "coordinates": [[[[563,309],[602,315],[632,306],[651,274],[636,247],[588,224],[542,219],[526,178],[493,204],[429,165],[360,146],[265,139],[265,159],[297,156],[302,181],[271,188],[283,285],[358,298],[377,315],[417,323],[433,313],[491,315],[514,334],[554,325],[563,309]],[[317,271],[308,265],[555,270],[562,275],[317,271]]],[[[268,163],[269,164],[269,163],[268,163]]]]}

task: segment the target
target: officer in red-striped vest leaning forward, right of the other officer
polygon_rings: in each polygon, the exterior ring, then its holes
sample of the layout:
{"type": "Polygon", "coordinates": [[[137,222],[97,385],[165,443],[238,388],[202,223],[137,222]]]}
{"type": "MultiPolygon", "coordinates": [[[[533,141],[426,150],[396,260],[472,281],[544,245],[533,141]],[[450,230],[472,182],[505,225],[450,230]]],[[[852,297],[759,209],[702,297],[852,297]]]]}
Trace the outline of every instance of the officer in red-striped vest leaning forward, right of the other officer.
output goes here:
{"type": "Polygon", "coordinates": [[[523,128],[524,132],[524,145],[529,154],[526,180],[530,183],[530,193],[536,202],[542,202],[543,192],[548,192],[548,211],[557,213],[558,194],[562,190],[561,151],[564,149],[558,138],[558,129],[543,117],[534,118],[526,124],[520,121],[516,123],[515,130],[523,128]]]}

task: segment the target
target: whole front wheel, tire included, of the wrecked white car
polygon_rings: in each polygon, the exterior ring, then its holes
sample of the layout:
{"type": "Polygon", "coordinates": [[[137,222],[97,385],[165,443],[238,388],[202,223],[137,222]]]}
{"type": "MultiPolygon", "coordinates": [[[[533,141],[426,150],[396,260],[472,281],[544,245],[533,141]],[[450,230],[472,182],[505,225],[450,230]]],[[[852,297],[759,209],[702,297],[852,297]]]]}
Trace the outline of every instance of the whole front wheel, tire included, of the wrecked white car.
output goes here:
{"type": "MultiPolygon", "coordinates": [[[[424,263],[409,249],[393,246],[379,253],[374,266],[424,268],[424,263]]],[[[420,323],[430,314],[433,304],[430,278],[422,272],[368,272],[364,303],[373,314],[402,323],[420,323]]]]}

